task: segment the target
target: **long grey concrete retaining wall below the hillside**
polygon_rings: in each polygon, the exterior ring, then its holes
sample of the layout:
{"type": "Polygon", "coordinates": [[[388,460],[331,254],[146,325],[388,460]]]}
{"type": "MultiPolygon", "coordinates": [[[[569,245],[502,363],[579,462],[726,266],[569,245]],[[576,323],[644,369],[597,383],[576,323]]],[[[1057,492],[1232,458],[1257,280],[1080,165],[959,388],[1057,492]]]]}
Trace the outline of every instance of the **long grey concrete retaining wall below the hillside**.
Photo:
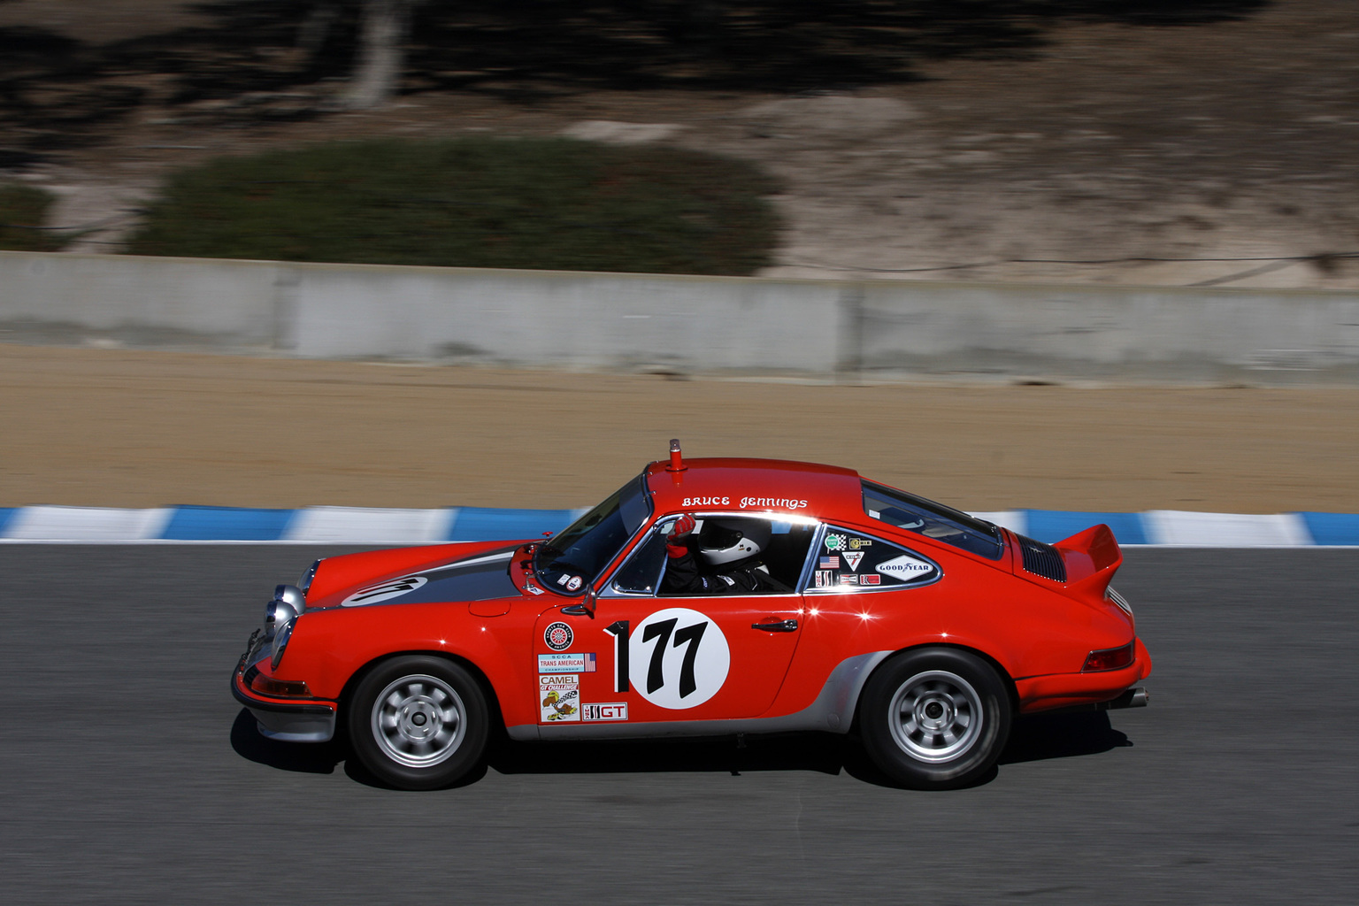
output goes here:
{"type": "Polygon", "coordinates": [[[0,253],[0,338],[883,378],[1359,383],[1359,291],[0,253]]]}

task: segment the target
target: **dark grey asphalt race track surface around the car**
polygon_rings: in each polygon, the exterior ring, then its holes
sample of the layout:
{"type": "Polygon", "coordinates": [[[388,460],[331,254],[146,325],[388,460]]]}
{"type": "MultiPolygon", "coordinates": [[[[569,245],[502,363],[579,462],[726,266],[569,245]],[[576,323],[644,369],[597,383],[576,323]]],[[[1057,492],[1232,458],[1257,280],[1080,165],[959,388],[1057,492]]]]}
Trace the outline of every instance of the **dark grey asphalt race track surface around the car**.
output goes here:
{"type": "Polygon", "coordinates": [[[322,551],[0,547],[7,903],[1352,903],[1359,550],[1129,550],[1142,710],[973,789],[840,738],[506,746],[435,793],[262,740],[227,678],[322,551]]]}

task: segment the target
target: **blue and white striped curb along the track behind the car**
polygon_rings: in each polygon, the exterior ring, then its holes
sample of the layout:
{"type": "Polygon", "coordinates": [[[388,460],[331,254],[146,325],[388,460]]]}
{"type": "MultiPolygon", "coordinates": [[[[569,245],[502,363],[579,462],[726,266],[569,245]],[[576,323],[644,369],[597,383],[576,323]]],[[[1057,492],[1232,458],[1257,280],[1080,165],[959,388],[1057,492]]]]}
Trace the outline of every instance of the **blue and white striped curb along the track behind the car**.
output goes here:
{"type": "MultiPolygon", "coordinates": [[[[580,509],[378,509],[307,507],[0,508],[0,543],[294,543],[434,545],[535,538],[587,512],[580,509]]],[[[1060,541],[1105,523],[1124,546],[1348,547],[1359,546],[1356,513],[1140,513],[1004,509],[977,516],[1038,541],[1060,541]]]]}

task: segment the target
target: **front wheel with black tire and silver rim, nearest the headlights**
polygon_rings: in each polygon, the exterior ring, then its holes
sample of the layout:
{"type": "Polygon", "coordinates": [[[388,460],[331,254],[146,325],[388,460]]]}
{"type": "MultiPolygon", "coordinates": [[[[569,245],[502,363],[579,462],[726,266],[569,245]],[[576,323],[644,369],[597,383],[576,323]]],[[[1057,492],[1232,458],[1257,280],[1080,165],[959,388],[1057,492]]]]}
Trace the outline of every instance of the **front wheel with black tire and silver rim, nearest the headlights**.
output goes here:
{"type": "Polygon", "coordinates": [[[489,713],[481,685],[461,664],[432,655],[393,657],[355,687],[349,744],[378,780],[439,789],[480,763],[489,713]]]}

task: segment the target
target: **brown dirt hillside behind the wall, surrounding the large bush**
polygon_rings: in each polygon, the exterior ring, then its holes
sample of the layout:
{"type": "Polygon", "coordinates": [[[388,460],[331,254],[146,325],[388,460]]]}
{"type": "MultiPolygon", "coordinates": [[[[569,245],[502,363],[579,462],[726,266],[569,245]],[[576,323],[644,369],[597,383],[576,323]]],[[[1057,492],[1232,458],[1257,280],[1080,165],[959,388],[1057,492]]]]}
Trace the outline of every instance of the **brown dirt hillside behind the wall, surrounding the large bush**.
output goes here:
{"type": "Polygon", "coordinates": [[[1354,0],[917,3],[900,5],[981,12],[881,29],[705,4],[749,27],[700,30],[735,37],[666,56],[641,24],[564,20],[550,39],[575,57],[514,34],[493,4],[431,3],[423,15],[444,18],[417,23],[405,92],[361,113],[333,103],[348,7],[328,57],[299,24],[323,4],[75,5],[0,1],[0,167],[58,194],[52,225],[90,230],[75,250],[117,250],[164,175],[208,156],[493,130],[761,163],[788,223],[771,276],[1359,280],[1354,0]],[[620,50],[646,41],[651,58],[620,50]],[[506,62],[525,48],[541,53],[506,62]]]}

